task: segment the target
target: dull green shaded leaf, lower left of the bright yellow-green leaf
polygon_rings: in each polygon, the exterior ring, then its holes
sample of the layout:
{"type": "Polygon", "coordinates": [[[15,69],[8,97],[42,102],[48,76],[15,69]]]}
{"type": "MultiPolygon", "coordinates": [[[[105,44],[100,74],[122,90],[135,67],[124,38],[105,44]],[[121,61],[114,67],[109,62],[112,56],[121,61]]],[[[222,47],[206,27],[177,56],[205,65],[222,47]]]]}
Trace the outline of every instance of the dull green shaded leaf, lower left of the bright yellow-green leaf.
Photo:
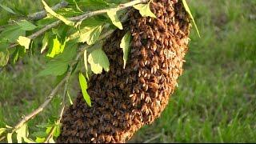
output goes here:
{"type": "Polygon", "coordinates": [[[60,62],[60,61],[50,61],[46,64],[46,69],[39,72],[39,76],[46,75],[62,75],[66,72],[68,68],[68,62],[60,62]]]}

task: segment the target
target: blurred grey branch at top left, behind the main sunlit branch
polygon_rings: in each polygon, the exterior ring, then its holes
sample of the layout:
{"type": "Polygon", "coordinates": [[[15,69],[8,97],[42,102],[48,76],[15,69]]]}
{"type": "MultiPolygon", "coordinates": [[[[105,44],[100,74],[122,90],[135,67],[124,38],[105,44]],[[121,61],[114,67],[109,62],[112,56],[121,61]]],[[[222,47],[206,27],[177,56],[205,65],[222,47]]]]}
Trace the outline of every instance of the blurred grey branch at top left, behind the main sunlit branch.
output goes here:
{"type": "MultiPolygon", "coordinates": [[[[55,6],[51,7],[51,9],[55,11],[55,10],[62,9],[68,5],[69,5],[69,2],[66,2],[63,0],[62,2],[59,2],[55,6]]],[[[46,18],[46,16],[47,16],[46,10],[42,10],[34,14],[29,14],[27,17],[28,17],[28,20],[30,21],[38,21],[42,18],[46,18]]]]}

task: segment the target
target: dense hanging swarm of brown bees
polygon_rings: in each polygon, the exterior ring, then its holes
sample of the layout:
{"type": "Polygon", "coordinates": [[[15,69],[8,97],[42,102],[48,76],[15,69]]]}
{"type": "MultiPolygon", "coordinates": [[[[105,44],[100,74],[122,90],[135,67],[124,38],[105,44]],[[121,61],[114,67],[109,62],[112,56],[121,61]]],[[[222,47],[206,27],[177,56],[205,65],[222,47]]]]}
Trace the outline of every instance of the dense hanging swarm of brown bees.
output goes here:
{"type": "Polygon", "coordinates": [[[119,46],[126,30],[106,40],[110,71],[90,78],[92,107],[79,94],[66,109],[58,142],[126,142],[165,109],[182,74],[190,22],[178,0],[154,0],[150,9],[157,18],[134,10],[125,24],[132,34],[126,69],[119,46]]]}

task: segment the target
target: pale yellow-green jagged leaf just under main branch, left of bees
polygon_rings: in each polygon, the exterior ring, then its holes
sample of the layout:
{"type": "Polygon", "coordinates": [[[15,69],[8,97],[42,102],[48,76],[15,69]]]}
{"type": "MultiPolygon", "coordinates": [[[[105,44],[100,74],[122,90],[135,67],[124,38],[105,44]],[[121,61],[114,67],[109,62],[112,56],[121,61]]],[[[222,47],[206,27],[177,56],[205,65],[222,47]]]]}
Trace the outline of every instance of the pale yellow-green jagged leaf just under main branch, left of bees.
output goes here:
{"type": "Polygon", "coordinates": [[[84,27],[78,38],[78,42],[86,42],[88,45],[94,44],[102,33],[102,26],[84,27]],[[82,31],[86,31],[82,33],[82,31]]]}

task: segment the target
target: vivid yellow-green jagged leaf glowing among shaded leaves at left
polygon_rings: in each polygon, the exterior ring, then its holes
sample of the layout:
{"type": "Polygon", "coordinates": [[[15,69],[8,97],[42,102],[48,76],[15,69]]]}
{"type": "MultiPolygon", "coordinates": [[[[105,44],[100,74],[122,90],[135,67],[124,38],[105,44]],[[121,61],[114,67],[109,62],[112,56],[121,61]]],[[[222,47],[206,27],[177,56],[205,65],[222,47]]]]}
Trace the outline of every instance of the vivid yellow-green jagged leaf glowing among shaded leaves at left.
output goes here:
{"type": "Polygon", "coordinates": [[[61,43],[58,40],[57,36],[56,36],[56,38],[54,38],[53,41],[54,41],[54,45],[51,47],[50,53],[48,53],[46,55],[47,57],[50,57],[50,58],[54,58],[55,55],[61,54],[63,52],[63,50],[64,50],[64,48],[66,46],[66,42],[67,42],[67,40],[66,40],[63,43],[61,43]]]}

